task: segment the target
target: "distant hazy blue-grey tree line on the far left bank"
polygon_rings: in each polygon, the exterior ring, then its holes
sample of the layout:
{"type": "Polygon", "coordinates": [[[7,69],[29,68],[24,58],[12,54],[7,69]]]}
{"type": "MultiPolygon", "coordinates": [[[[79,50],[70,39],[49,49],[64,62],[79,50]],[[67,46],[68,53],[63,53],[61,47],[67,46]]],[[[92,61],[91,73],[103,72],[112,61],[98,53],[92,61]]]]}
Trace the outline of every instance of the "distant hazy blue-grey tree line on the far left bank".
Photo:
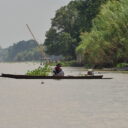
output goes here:
{"type": "Polygon", "coordinates": [[[0,61],[33,61],[41,59],[40,47],[34,40],[20,41],[0,49],[0,61]]]}

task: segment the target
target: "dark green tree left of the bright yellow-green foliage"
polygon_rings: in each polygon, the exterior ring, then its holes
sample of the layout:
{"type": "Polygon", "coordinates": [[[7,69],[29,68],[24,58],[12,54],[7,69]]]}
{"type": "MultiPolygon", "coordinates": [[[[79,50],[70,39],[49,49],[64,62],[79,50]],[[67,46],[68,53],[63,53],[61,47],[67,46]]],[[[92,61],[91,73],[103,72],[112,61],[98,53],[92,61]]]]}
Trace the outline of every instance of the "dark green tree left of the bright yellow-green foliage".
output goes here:
{"type": "Polygon", "coordinates": [[[56,11],[52,25],[46,33],[46,52],[64,55],[73,59],[75,49],[80,43],[81,32],[89,32],[92,19],[96,17],[100,6],[107,0],[75,0],[56,11]]]}

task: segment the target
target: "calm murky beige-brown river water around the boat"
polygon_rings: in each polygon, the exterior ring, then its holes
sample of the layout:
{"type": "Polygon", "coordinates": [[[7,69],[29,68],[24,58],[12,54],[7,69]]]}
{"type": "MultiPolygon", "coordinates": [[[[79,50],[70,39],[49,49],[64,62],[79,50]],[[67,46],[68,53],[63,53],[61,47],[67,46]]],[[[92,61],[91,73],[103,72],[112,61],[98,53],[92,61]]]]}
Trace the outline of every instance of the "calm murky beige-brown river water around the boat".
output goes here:
{"type": "MultiPolygon", "coordinates": [[[[24,74],[37,63],[0,63],[0,73],[24,74]]],[[[65,74],[86,73],[64,68],[65,74]]],[[[0,128],[128,128],[128,74],[97,80],[0,78],[0,128]]]]}

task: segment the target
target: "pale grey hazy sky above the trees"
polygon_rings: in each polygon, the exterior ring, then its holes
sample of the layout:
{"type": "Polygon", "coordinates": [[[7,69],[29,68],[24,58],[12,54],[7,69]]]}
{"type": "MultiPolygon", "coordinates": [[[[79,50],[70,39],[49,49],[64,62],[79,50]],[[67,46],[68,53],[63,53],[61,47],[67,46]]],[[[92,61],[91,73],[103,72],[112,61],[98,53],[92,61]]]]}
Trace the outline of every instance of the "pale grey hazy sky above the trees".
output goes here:
{"type": "Polygon", "coordinates": [[[71,0],[0,0],[0,46],[6,48],[32,36],[43,43],[45,33],[51,26],[51,19],[60,7],[71,0]]]}

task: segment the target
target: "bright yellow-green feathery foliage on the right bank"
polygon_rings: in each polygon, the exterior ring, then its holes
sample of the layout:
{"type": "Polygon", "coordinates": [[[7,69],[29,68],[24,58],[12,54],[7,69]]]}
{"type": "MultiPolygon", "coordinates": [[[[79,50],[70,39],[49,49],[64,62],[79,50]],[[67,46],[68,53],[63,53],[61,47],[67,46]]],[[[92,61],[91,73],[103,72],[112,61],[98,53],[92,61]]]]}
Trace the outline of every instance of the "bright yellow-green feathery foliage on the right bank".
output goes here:
{"type": "Polygon", "coordinates": [[[115,66],[128,62],[128,0],[110,0],[81,36],[77,55],[86,64],[115,66]]]}

